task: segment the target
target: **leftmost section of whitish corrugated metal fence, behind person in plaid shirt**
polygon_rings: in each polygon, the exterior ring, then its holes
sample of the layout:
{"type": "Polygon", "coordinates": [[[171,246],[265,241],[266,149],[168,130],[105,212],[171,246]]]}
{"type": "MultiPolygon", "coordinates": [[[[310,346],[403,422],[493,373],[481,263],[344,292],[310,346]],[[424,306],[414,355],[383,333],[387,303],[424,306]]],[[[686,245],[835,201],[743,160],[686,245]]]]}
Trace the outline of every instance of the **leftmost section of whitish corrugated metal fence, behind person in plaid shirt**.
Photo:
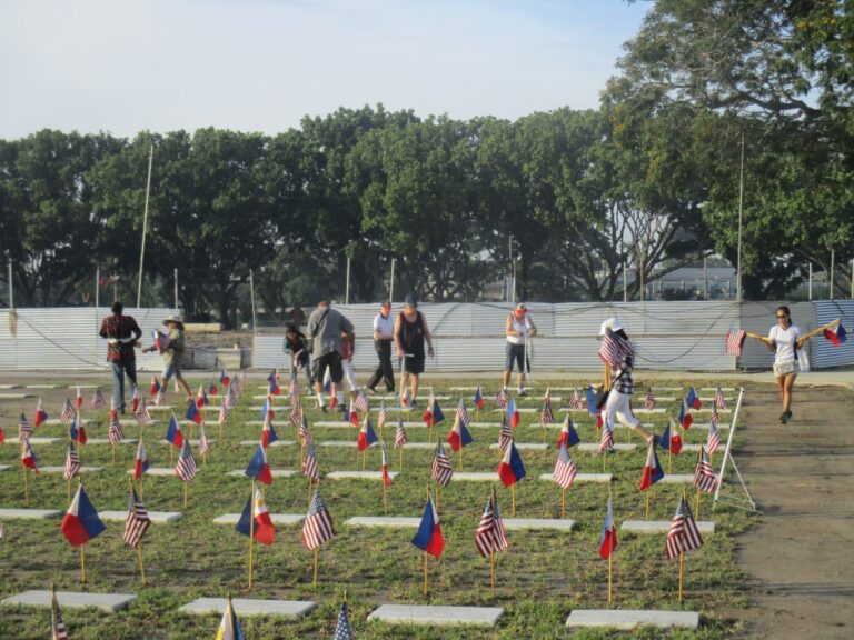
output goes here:
{"type": "MultiPolygon", "coordinates": [[[[151,330],[160,328],[175,309],[126,309],[136,318],[143,341],[151,343],[151,330]]],[[[107,362],[107,341],[98,336],[101,319],[109,308],[68,307],[54,309],[0,310],[0,370],[102,369],[107,362]],[[12,331],[14,328],[14,331],[12,331]]],[[[160,370],[161,358],[137,351],[140,370],[160,370]]]]}

